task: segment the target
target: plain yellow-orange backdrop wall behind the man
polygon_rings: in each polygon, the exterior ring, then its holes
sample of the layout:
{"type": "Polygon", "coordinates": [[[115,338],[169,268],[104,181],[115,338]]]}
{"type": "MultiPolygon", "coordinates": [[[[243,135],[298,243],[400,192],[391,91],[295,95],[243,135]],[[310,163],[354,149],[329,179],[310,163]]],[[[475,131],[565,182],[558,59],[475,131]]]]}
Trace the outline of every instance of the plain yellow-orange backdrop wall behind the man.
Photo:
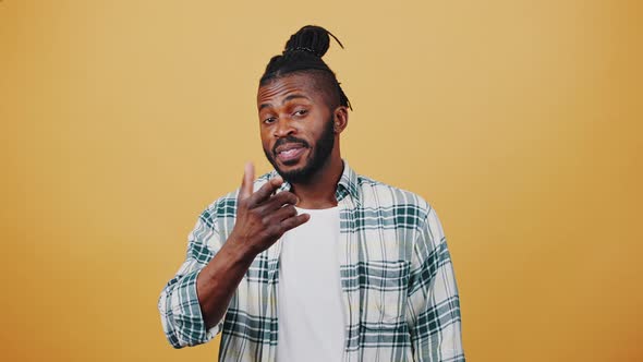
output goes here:
{"type": "Polygon", "coordinates": [[[468,358],[643,360],[642,5],[608,0],[0,0],[0,359],[216,360],[157,298],[268,169],[257,81],[308,23],[343,156],[438,212],[468,358]]]}

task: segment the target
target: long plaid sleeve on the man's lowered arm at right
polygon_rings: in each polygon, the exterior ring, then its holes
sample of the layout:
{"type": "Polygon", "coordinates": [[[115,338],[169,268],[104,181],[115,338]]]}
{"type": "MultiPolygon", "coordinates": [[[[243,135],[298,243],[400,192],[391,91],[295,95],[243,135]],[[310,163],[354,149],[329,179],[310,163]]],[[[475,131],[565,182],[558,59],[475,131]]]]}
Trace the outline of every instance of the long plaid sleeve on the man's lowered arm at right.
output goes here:
{"type": "Polygon", "coordinates": [[[430,206],[415,240],[407,322],[414,361],[465,361],[453,265],[442,226],[430,206]]]}

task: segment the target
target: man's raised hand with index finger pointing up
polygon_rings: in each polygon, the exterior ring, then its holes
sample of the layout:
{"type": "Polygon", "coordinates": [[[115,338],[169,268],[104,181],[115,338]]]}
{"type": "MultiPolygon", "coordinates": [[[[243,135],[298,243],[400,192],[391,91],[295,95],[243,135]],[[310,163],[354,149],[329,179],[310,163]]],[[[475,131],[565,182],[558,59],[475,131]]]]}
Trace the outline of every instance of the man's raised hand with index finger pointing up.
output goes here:
{"type": "Polygon", "coordinates": [[[308,221],[310,215],[298,215],[298,197],[289,191],[275,194],[283,183],[281,177],[268,180],[253,193],[254,166],[245,165],[236,198],[236,222],[229,240],[248,248],[254,255],[270,248],[281,236],[308,221]]]}

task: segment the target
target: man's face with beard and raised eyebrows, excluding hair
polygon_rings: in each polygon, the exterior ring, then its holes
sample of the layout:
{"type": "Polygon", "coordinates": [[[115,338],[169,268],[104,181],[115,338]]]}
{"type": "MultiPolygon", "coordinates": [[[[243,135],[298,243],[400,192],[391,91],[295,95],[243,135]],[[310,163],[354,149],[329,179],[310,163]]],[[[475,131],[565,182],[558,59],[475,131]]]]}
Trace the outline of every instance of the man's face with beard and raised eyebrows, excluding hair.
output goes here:
{"type": "Polygon", "coordinates": [[[292,74],[259,87],[262,145],[266,157],[291,183],[306,183],[335,147],[333,113],[314,75],[292,74]]]}

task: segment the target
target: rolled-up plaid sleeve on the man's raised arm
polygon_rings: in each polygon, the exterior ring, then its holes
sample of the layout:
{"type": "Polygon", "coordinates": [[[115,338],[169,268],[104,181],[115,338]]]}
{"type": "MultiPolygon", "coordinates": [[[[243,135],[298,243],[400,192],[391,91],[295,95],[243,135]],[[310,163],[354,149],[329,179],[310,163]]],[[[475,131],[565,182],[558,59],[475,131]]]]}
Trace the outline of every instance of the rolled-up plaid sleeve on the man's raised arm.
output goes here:
{"type": "Polygon", "coordinates": [[[220,246],[216,224],[206,209],[189,236],[185,261],[158,300],[163,331],[174,348],[205,343],[221,330],[223,318],[206,330],[196,294],[196,277],[220,246]]]}

